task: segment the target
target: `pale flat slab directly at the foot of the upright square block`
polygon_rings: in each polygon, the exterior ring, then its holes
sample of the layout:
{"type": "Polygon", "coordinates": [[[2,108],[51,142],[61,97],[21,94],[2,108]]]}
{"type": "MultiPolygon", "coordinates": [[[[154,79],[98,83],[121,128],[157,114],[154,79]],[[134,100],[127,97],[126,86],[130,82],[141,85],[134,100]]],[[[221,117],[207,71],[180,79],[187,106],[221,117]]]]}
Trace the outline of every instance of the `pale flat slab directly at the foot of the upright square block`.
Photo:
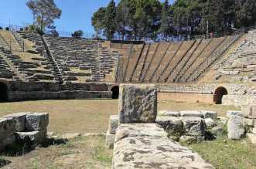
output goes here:
{"type": "Polygon", "coordinates": [[[118,126],[115,142],[126,137],[167,137],[167,133],[157,123],[121,123],[118,126]]]}

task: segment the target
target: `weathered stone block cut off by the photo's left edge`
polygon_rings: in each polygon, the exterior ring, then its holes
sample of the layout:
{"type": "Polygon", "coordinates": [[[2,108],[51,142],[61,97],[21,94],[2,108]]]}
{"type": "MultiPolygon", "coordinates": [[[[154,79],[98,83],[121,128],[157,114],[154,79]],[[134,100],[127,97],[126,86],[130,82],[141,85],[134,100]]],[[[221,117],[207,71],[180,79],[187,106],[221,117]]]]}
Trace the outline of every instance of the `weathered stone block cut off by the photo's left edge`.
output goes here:
{"type": "Polygon", "coordinates": [[[0,140],[12,136],[15,132],[16,122],[12,117],[0,119],[0,140]]]}

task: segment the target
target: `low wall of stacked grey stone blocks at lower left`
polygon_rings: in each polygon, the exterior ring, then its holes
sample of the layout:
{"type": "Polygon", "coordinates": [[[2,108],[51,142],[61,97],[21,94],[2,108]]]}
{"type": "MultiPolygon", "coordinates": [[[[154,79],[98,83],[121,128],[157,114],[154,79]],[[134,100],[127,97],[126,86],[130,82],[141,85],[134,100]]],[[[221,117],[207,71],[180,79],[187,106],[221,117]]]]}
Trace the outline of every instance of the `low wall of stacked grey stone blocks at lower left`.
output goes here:
{"type": "Polygon", "coordinates": [[[0,118],[0,150],[14,144],[37,145],[45,140],[48,113],[14,113],[0,118]]]}

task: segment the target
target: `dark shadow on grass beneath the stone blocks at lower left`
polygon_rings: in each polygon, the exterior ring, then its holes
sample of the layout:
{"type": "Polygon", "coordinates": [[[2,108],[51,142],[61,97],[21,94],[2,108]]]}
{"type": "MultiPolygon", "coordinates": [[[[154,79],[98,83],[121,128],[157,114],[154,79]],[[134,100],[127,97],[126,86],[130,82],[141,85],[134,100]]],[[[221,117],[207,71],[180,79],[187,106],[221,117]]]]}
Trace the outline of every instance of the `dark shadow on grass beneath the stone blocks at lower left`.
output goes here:
{"type": "Polygon", "coordinates": [[[4,156],[17,157],[28,154],[36,147],[50,147],[53,145],[67,144],[67,139],[46,138],[41,144],[35,144],[29,137],[24,140],[17,140],[12,146],[6,147],[2,153],[4,156]]]}

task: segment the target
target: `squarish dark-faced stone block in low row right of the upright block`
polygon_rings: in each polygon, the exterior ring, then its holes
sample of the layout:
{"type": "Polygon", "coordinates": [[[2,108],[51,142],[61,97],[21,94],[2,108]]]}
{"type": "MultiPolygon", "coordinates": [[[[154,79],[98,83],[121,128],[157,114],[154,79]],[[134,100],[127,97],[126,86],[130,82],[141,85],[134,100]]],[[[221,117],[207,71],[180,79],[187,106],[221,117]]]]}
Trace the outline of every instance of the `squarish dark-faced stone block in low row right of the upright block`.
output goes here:
{"type": "Polygon", "coordinates": [[[200,117],[179,117],[183,121],[185,135],[203,136],[206,130],[206,124],[200,117]]]}

